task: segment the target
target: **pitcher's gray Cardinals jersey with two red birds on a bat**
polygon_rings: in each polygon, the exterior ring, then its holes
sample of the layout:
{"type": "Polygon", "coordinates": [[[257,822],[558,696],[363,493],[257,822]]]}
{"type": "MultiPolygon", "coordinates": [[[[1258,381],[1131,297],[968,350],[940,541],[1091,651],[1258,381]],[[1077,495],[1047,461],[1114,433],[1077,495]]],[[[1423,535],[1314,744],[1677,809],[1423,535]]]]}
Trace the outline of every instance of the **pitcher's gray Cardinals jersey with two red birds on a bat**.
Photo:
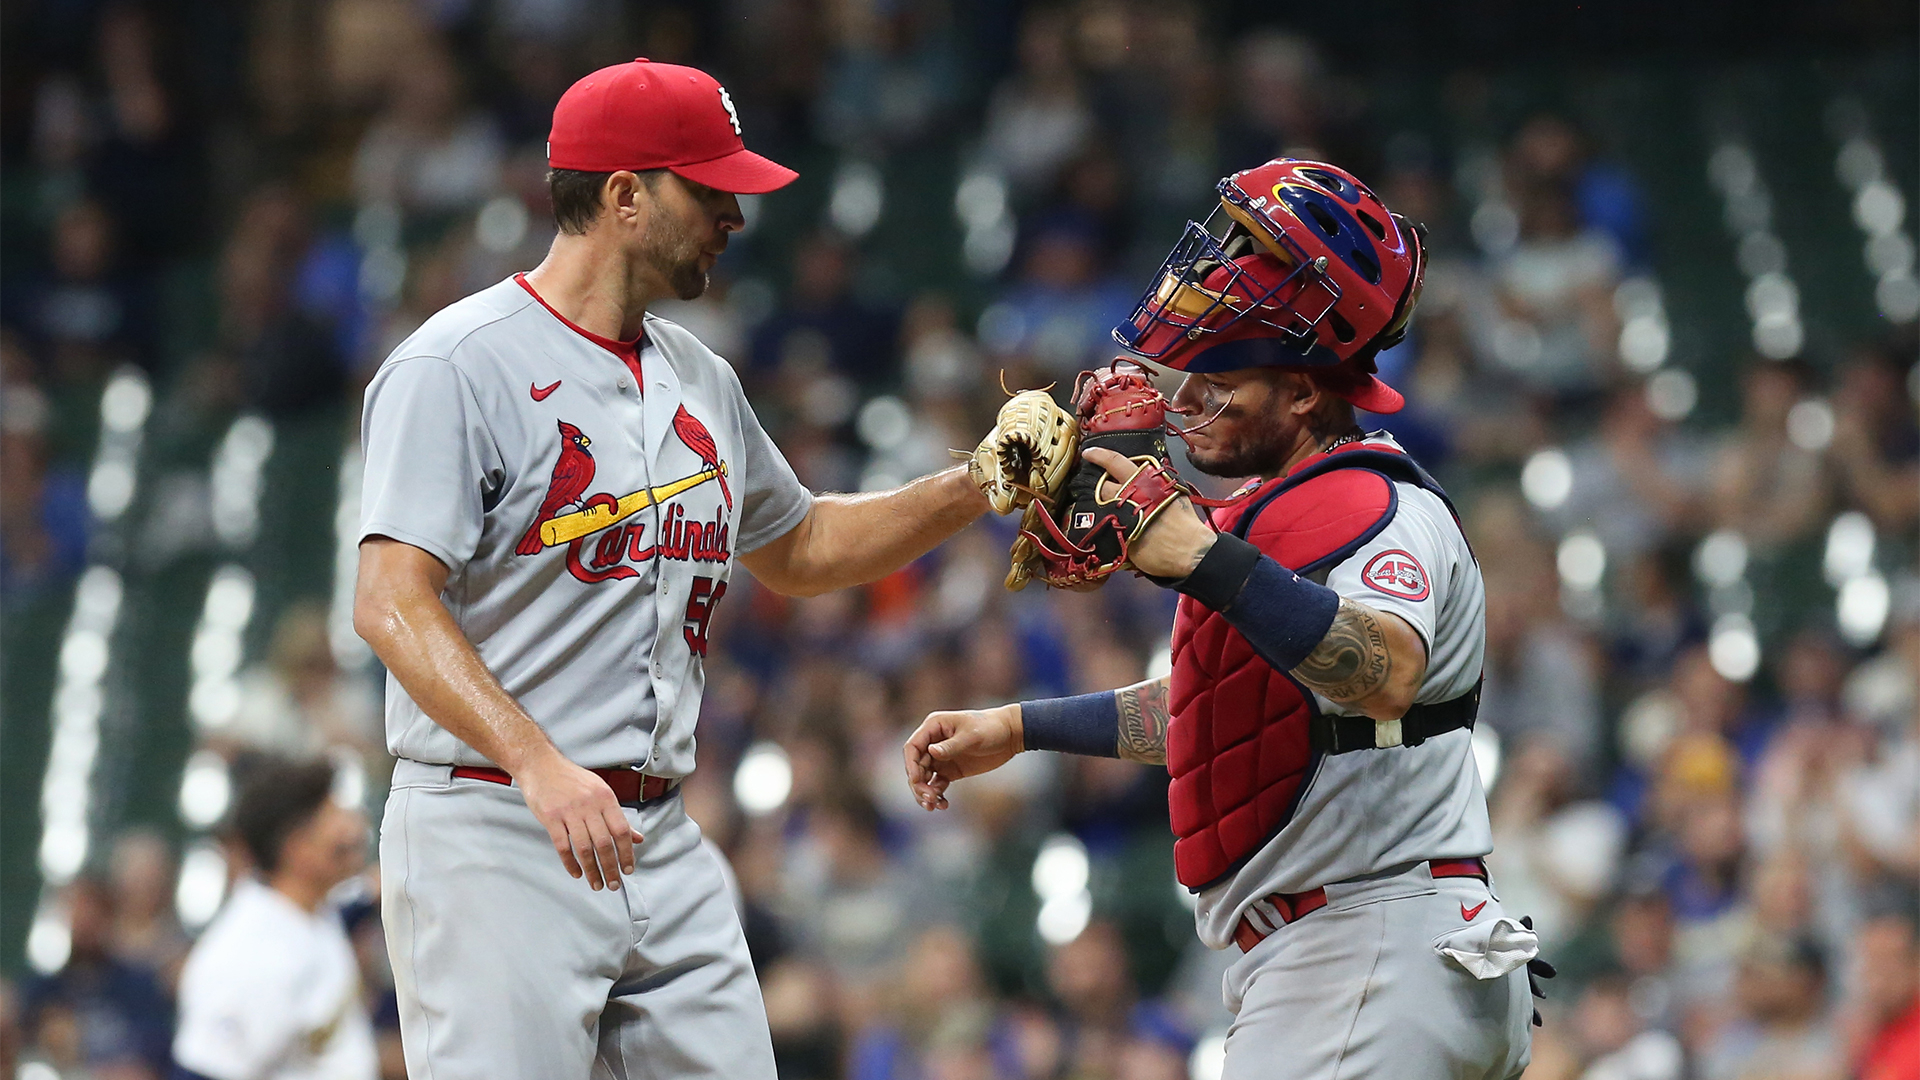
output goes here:
{"type": "MultiPolygon", "coordinates": [[[[361,538],[447,565],[453,621],[576,765],[684,776],[733,557],[812,494],[693,334],[647,315],[632,354],[520,277],[428,319],[367,386],[361,538]]],[[[490,765],[396,678],[386,738],[490,765]]]]}

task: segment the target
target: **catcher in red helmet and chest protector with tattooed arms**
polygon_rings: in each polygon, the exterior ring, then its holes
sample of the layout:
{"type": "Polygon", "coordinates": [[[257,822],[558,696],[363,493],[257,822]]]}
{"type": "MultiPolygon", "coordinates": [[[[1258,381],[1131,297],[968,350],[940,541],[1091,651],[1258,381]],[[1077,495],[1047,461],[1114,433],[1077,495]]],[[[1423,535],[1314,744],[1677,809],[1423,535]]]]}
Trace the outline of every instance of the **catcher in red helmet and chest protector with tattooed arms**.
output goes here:
{"type": "MultiPolygon", "coordinates": [[[[1133,569],[1181,592],[1173,671],[933,713],[908,740],[925,809],[1021,749],[1165,765],[1200,938],[1240,949],[1227,1080],[1509,1080],[1530,1051],[1530,922],[1500,905],[1469,748],[1480,571],[1440,486],[1354,417],[1400,409],[1373,357],[1425,269],[1417,227],[1346,171],[1277,160],[1219,183],[1133,317],[1131,357],[1075,394],[1081,463],[1027,505],[1010,588],[1133,569]],[[1167,465],[1258,477],[1210,519],[1167,465]]],[[[1532,963],[1530,963],[1532,961],[1532,963]]]]}

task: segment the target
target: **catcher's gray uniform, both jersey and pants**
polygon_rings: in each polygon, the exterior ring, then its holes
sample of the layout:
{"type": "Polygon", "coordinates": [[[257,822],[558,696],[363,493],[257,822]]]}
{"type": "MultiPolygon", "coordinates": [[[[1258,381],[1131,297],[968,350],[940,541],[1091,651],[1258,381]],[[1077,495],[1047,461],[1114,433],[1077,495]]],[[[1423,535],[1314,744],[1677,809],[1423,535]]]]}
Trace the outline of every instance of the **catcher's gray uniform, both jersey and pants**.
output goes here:
{"type": "MultiPolygon", "coordinates": [[[[1386,434],[1367,444],[1398,450],[1386,434]]],[[[1340,596],[1407,621],[1427,646],[1415,701],[1480,678],[1486,594],[1440,496],[1394,484],[1394,519],[1327,575],[1340,596]]],[[[1315,694],[1327,713],[1356,709],[1315,694]]],[[[1256,899],[1325,888],[1327,905],[1227,970],[1223,1080],[1511,1080],[1530,1057],[1524,963],[1538,940],[1492,882],[1434,878],[1428,859],[1494,847],[1473,736],[1323,757],[1292,821],[1200,896],[1200,938],[1233,947],[1256,899]]]]}

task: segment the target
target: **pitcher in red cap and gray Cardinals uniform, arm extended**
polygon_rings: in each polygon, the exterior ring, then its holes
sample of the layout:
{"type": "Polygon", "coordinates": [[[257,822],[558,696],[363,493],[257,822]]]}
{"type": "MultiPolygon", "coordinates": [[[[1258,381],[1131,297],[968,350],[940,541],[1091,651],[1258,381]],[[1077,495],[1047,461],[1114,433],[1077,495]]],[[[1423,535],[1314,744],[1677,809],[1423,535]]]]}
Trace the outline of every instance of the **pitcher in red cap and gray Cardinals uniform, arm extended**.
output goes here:
{"type": "MultiPolygon", "coordinates": [[[[1058,482],[1071,419],[1010,402],[966,469],[814,498],[691,300],[749,152],[707,73],[636,60],[553,111],[559,236],[428,319],[367,388],[355,628],[397,757],[382,915],[409,1076],[774,1078],[722,869],[678,798],[735,563],[876,580],[1058,482]],[[985,494],[983,494],[985,492],[985,494]]],[[[1044,398],[1044,396],[1043,396],[1044,398]]]]}

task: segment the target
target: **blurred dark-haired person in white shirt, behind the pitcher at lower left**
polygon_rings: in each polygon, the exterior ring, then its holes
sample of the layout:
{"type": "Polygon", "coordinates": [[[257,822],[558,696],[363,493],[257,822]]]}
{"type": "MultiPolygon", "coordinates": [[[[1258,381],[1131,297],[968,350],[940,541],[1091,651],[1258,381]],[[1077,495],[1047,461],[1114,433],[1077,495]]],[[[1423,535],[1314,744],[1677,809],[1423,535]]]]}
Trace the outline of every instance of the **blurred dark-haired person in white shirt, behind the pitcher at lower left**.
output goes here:
{"type": "Polygon", "coordinates": [[[252,859],[180,974],[173,1053],[190,1076],[378,1076],[359,961],[328,894],[367,861],[367,821],[324,761],[263,761],[232,828],[252,859]]]}

